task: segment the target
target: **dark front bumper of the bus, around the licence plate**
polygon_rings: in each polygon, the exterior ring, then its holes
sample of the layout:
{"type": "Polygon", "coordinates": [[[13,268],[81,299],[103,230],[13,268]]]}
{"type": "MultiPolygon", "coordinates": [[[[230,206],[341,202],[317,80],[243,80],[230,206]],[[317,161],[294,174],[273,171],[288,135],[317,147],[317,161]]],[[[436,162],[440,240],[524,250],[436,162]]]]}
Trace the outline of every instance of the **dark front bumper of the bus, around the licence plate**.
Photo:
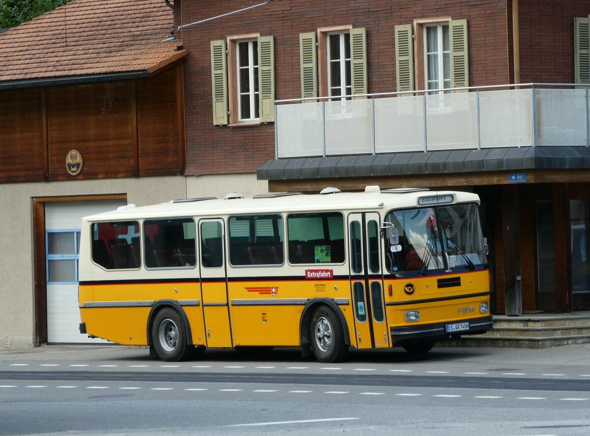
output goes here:
{"type": "Polygon", "coordinates": [[[464,319],[454,322],[435,324],[419,324],[417,326],[391,327],[391,345],[403,346],[412,343],[425,342],[425,340],[441,340],[462,335],[482,335],[493,327],[492,317],[464,319]],[[468,323],[467,329],[453,330],[457,324],[468,323]],[[450,327],[451,326],[451,329],[450,327]],[[449,331],[451,330],[451,331],[449,331]]]}

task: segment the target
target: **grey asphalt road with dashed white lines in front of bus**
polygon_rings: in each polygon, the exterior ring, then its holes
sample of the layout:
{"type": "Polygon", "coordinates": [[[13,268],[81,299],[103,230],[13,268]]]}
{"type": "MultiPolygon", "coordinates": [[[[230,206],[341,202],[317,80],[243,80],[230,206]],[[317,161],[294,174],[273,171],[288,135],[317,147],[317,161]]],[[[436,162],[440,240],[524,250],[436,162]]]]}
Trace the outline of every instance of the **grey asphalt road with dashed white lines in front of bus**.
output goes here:
{"type": "Polygon", "coordinates": [[[146,349],[0,351],[0,435],[590,434],[590,344],[549,349],[297,349],[151,360],[146,349]]]}

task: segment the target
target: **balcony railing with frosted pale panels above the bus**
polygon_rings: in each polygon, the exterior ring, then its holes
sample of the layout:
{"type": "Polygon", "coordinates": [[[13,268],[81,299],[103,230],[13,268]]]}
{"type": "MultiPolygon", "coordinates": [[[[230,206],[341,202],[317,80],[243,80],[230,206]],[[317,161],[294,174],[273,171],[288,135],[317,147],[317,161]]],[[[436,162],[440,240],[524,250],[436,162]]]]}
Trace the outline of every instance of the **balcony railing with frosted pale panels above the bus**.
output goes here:
{"type": "Polygon", "coordinates": [[[589,88],[526,83],[276,100],[276,158],[588,147],[589,88]]]}

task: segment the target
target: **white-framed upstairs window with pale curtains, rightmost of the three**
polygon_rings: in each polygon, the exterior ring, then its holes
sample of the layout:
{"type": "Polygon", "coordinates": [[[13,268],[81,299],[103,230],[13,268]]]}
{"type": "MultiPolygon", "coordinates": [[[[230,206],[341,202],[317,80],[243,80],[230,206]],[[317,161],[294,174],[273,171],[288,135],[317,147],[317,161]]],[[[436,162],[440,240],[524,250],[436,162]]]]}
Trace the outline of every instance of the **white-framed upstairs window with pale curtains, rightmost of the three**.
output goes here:
{"type": "Polygon", "coordinates": [[[424,26],[424,86],[429,90],[451,87],[448,23],[424,26]]]}

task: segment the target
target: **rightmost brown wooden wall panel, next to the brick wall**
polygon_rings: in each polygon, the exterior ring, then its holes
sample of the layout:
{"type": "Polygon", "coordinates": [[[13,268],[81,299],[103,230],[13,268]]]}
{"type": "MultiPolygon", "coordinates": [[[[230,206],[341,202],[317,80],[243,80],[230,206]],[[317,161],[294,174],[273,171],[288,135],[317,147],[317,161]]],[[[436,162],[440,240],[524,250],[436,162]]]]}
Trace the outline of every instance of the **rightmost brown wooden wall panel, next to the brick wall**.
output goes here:
{"type": "Polygon", "coordinates": [[[137,83],[140,176],[181,173],[176,80],[176,70],[169,69],[151,80],[137,83]]]}

